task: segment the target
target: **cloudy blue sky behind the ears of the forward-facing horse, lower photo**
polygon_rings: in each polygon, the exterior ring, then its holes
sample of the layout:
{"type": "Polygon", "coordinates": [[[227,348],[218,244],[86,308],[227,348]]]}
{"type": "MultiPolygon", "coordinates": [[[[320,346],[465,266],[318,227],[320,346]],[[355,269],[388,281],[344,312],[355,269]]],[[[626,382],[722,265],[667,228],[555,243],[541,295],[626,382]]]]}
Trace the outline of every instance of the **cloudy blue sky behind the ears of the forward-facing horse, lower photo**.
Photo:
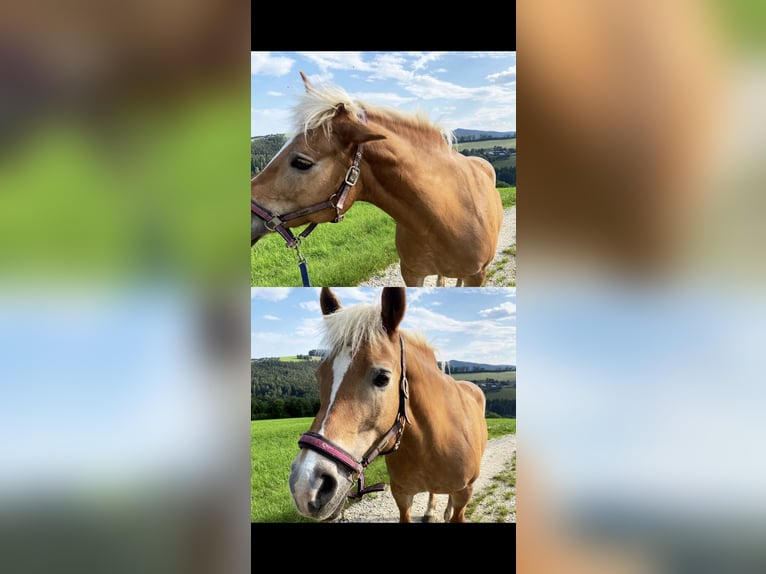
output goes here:
{"type": "MultiPolygon", "coordinates": [[[[348,307],[378,302],[382,289],[333,291],[348,307]]],[[[313,287],[252,288],[251,357],[306,354],[318,348],[319,292],[313,287]]],[[[408,288],[402,328],[425,335],[440,360],[516,364],[516,289],[408,288]]]]}

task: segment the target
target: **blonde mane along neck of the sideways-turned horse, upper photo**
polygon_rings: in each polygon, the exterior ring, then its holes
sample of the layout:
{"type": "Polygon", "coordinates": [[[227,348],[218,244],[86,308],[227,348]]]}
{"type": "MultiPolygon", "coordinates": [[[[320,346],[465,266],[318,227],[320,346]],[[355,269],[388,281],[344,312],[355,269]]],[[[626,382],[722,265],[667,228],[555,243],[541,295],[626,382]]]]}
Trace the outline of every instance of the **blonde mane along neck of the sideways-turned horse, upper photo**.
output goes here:
{"type": "Polygon", "coordinates": [[[293,130],[303,133],[322,129],[329,138],[332,135],[332,118],[340,109],[345,108],[352,115],[360,117],[366,114],[389,126],[401,126],[415,131],[438,134],[447,146],[457,141],[455,134],[433,123],[424,112],[406,113],[393,108],[366,104],[353,99],[343,88],[331,84],[312,85],[293,108],[293,130]]]}

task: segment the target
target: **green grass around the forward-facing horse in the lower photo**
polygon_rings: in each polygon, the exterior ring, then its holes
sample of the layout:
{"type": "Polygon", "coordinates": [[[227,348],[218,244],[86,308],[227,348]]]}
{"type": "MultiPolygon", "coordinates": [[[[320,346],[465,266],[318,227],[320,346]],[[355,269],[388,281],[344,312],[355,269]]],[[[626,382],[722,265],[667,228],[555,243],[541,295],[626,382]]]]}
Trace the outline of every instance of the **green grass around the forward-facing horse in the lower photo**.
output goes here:
{"type": "MultiPolygon", "coordinates": [[[[298,454],[298,437],[312,418],[276,419],[250,423],[250,521],[312,522],[295,510],[287,484],[290,464],[298,454]]],[[[516,433],[516,419],[487,419],[489,438],[516,433]]],[[[388,482],[384,457],[367,468],[365,484],[388,482]]]]}

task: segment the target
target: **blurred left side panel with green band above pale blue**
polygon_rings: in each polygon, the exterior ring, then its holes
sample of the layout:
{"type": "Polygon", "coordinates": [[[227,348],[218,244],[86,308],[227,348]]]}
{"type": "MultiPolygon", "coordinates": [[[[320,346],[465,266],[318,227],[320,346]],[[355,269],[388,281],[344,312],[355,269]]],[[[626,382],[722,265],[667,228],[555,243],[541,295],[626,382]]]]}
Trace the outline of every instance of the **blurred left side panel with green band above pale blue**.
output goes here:
{"type": "Polygon", "coordinates": [[[0,6],[0,571],[249,571],[249,39],[0,6]]]}

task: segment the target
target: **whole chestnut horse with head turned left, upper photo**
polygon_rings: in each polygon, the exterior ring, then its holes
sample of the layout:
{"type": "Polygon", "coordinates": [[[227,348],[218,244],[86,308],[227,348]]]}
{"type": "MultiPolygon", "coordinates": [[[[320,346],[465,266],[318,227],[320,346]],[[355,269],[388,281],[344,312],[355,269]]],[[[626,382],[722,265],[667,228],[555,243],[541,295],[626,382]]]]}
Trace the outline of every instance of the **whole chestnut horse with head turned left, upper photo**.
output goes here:
{"type": "Polygon", "coordinates": [[[396,222],[396,249],[407,286],[429,275],[481,286],[494,259],[503,205],[492,165],[452,149],[451,132],[422,114],[353,100],[336,86],[314,86],[301,72],[293,110],[297,135],[250,181],[250,246],[290,228],[339,222],[356,201],[396,222]]]}

